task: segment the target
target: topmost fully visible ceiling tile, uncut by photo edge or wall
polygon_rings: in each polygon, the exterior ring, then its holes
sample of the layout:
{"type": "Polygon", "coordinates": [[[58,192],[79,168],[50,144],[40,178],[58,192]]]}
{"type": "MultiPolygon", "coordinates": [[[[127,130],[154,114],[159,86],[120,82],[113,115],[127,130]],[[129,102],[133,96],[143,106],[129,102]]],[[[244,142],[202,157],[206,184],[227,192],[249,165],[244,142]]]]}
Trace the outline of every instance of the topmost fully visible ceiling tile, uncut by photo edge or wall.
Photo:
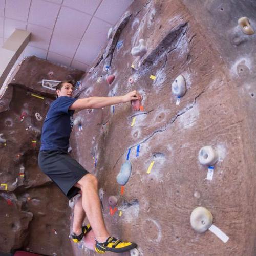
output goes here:
{"type": "Polygon", "coordinates": [[[82,38],[91,16],[68,7],[61,7],[54,28],[55,35],[69,35],[74,38],[82,38]]]}

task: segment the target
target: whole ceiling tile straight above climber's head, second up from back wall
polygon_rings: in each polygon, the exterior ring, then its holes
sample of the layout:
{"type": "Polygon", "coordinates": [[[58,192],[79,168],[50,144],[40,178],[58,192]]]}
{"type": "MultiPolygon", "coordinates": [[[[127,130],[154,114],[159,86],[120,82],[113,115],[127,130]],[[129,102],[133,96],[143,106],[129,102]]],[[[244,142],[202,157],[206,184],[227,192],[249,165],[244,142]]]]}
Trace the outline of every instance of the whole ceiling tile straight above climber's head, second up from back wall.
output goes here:
{"type": "Polygon", "coordinates": [[[80,40],[71,36],[53,35],[49,51],[73,58],[80,40]]]}

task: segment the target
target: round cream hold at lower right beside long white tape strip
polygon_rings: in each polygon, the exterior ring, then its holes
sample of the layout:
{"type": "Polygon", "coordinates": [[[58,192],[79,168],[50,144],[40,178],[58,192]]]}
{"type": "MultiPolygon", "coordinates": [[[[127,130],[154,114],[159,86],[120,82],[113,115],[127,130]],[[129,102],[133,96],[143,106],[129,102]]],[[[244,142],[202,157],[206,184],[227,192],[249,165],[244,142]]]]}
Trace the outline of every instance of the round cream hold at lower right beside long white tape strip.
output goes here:
{"type": "Polygon", "coordinates": [[[203,233],[209,229],[212,224],[212,214],[204,207],[195,208],[190,215],[191,227],[198,233],[203,233]]]}

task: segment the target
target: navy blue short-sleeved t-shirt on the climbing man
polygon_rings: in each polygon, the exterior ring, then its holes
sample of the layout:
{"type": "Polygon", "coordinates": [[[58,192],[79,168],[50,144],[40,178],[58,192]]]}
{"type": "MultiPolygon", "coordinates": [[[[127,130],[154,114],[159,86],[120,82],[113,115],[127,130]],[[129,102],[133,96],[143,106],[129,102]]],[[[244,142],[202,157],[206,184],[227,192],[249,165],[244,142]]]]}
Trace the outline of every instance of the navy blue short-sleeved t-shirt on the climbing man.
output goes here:
{"type": "Polygon", "coordinates": [[[42,125],[40,150],[68,150],[74,114],[74,110],[69,110],[69,107],[76,100],[60,96],[51,103],[42,125]]]}

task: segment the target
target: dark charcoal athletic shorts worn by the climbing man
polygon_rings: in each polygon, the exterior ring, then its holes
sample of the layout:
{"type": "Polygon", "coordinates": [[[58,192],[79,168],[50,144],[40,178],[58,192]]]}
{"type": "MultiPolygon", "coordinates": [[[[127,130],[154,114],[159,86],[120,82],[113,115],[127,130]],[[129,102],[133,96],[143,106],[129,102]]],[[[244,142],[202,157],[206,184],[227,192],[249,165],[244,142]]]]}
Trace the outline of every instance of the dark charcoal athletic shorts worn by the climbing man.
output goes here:
{"type": "Polygon", "coordinates": [[[69,199],[80,191],[77,181],[89,173],[65,151],[40,151],[38,165],[69,199]]]}

